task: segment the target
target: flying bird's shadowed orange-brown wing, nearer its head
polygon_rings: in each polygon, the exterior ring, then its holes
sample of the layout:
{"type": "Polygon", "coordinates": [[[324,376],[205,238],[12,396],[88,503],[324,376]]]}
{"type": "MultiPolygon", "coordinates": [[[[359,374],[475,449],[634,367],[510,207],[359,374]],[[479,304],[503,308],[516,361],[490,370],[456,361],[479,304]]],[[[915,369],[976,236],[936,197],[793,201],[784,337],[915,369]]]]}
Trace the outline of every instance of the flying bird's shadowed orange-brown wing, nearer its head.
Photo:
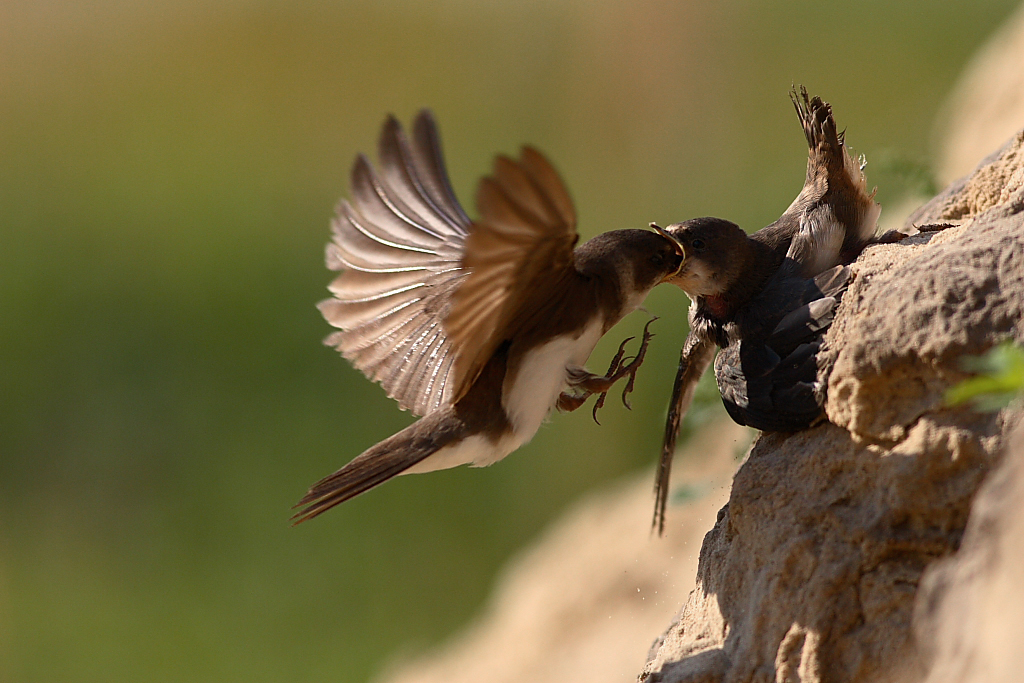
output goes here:
{"type": "Polygon", "coordinates": [[[450,376],[458,400],[495,349],[514,334],[524,307],[545,283],[572,270],[579,239],[568,191],[551,164],[523,147],[518,160],[498,157],[477,190],[480,218],[470,226],[462,266],[469,275],[452,297],[444,329],[456,348],[450,376]]]}

